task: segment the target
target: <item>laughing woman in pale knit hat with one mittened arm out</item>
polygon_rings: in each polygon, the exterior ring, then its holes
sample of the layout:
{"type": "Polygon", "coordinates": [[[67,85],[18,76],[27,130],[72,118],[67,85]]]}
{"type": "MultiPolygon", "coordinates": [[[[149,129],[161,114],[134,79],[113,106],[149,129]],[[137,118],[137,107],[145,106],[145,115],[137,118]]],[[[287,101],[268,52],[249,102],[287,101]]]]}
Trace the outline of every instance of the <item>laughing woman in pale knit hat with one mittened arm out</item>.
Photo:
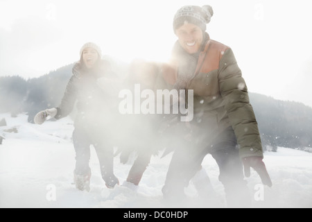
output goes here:
{"type": "Polygon", "coordinates": [[[102,178],[108,188],[119,184],[113,173],[113,141],[115,132],[114,101],[98,87],[99,78],[114,78],[110,63],[101,60],[101,49],[87,42],[80,49],[80,61],[73,66],[73,76],[67,84],[64,96],[57,108],[38,112],[35,123],[42,124],[46,117],[60,119],[71,113],[77,102],[78,114],[74,121],[73,146],[76,151],[76,167],[73,172],[76,188],[89,191],[90,145],[93,145],[100,162],[102,178]]]}

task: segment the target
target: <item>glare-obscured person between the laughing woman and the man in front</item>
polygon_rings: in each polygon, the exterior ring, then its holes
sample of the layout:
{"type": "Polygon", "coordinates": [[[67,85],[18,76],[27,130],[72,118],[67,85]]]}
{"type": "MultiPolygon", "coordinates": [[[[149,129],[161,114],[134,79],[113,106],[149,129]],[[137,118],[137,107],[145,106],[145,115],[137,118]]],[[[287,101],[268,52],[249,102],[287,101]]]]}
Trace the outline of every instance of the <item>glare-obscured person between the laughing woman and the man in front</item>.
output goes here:
{"type": "MultiPolygon", "coordinates": [[[[140,90],[147,89],[155,94],[157,89],[162,89],[165,85],[162,76],[159,76],[157,63],[144,60],[131,62],[128,76],[123,83],[125,89],[132,94],[135,94],[135,86],[139,86],[140,90]]],[[[141,108],[141,103],[139,105],[141,108]]],[[[144,112],[144,110],[141,111],[144,112]]],[[[129,157],[135,154],[135,160],[123,186],[137,190],[151,157],[162,149],[158,132],[162,117],[157,114],[141,113],[123,114],[121,119],[123,123],[121,130],[123,137],[119,142],[121,163],[127,163],[129,157]]]]}

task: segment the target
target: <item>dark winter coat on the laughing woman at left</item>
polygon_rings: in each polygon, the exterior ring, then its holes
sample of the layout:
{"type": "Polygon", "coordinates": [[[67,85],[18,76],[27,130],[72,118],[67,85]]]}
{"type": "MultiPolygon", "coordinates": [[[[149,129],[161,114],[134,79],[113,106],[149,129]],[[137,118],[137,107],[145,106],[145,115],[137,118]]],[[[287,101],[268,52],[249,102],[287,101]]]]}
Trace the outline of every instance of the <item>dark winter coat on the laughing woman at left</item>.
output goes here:
{"type": "Polygon", "coordinates": [[[117,101],[98,86],[97,80],[102,77],[116,78],[109,62],[101,60],[94,69],[87,69],[77,62],[55,118],[66,117],[76,105],[76,128],[97,129],[101,133],[101,129],[112,126],[117,101]]]}

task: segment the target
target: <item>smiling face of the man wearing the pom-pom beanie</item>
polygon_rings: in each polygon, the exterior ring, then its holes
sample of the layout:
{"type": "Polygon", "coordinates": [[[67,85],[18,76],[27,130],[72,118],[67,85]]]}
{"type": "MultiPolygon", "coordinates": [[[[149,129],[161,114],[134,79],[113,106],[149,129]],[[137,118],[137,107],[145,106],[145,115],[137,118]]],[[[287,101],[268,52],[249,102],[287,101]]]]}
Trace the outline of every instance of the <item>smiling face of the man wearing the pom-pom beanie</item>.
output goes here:
{"type": "Polygon", "coordinates": [[[202,30],[191,23],[186,23],[175,30],[182,48],[189,54],[197,53],[203,40],[202,30]]]}

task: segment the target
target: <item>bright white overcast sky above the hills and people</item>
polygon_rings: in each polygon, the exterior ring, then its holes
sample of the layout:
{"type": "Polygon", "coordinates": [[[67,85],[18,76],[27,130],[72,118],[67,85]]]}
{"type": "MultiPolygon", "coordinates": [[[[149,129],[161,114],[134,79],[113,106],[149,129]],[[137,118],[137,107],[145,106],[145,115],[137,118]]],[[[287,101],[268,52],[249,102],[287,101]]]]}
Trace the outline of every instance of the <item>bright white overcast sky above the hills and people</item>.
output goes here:
{"type": "Polygon", "coordinates": [[[312,107],[310,2],[0,0],[0,76],[42,76],[78,60],[89,41],[125,62],[166,61],[177,9],[209,4],[207,32],[232,47],[249,91],[312,107]]]}

